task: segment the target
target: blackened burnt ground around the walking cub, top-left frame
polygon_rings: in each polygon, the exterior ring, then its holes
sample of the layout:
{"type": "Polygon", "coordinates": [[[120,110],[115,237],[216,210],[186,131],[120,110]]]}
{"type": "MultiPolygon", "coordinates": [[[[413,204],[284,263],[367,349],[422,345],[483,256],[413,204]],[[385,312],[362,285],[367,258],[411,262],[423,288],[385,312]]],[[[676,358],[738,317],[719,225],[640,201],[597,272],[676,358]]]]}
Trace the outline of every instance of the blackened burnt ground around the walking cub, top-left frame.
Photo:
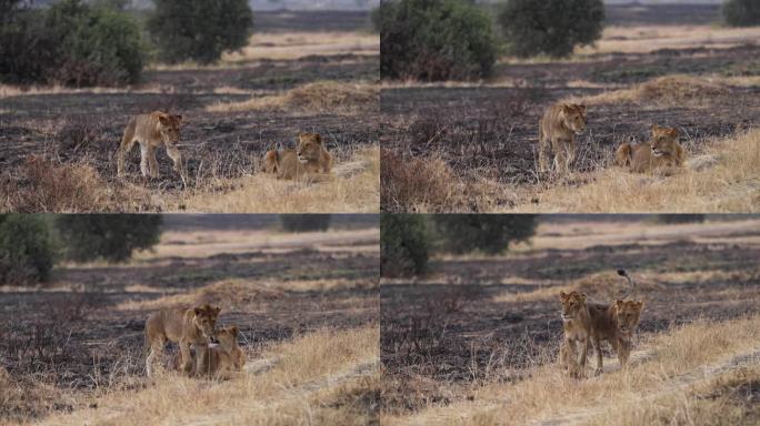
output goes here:
{"type": "MultiPolygon", "coordinates": [[[[257,28],[269,32],[362,30],[368,22],[353,12],[262,13],[257,28]],[[329,22],[341,22],[330,26],[329,22]]],[[[318,50],[317,50],[318,51],[318,50]]],[[[86,159],[110,184],[116,179],[116,150],[134,114],[153,110],[183,115],[180,150],[188,159],[189,186],[207,178],[232,179],[257,171],[267,150],[290,146],[301,131],[319,132],[338,160],[378,140],[378,109],[347,119],[321,112],[206,112],[216,103],[279,94],[313,81],[379,79],[379,55],[313,54],[293,60],[256,60],[226,68],[146,70],[142,82],[119,90],[41,93],[0,100],[0,170],[13,170],[32,154],[57,164],[86,159]],[[230,90],[231,89],[231,90],[230,90]],[[148,93],[140,91],[150,91],[148,93]],[[236,90],[249,91],[234,93],[236,90]],[[233,93],[230,93],[232,91],[233,93]],[[253,94],[251,94],[253,93],[253,94]]],[[[149,189],[177,190],[182,182],[172,162],[158,151],[161,179],[142,182],[139,149],[128,160],[128,175],[149,189]]],[[[0,179],[2,178],[0,173],[0,179]]],[[[19,182],[23,184],[23,182],[19,182]]],[[[23,190],[21,187],[20,190],[23,190]]]]}

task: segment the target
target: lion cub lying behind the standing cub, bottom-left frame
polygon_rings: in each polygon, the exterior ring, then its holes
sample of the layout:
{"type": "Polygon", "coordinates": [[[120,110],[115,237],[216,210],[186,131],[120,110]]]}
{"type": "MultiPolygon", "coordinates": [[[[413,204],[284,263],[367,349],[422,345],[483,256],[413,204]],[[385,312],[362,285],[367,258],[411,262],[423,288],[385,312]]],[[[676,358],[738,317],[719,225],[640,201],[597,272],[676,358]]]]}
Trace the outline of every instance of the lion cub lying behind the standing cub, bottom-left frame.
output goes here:
{"type": "Polygon", "coordinates": [[[206,356],[203,363],[194,363],[192,375],[230,378],[232,374],[242,369],[243,364],[246,364],[246,355],[238,345],[238,327],[233,325],[219,329],[217,339],[219,341],[218,345],[196,351],[194,356],[198,355],[199,351],[206,351],[206,356]]]}

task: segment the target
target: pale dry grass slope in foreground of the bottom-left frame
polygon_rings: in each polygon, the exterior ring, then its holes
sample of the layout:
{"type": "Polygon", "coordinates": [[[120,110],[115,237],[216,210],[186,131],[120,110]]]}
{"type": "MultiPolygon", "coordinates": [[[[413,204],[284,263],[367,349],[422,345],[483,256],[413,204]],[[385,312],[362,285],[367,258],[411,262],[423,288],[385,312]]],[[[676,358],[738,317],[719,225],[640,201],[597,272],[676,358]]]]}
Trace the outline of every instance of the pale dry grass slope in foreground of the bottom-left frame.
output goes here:
{"type": "Polygon", "coordinates": [[[369,396],[378,339],[377,326],[317,331],[266,351],[262,361],[273,361],[269,369],[249,361],[253,368],[228,382],[166,374],[143,390],[109,392],[89,402],[97,408],[43,424],[367,424],[373,412],[357,406],[369,396]]]}

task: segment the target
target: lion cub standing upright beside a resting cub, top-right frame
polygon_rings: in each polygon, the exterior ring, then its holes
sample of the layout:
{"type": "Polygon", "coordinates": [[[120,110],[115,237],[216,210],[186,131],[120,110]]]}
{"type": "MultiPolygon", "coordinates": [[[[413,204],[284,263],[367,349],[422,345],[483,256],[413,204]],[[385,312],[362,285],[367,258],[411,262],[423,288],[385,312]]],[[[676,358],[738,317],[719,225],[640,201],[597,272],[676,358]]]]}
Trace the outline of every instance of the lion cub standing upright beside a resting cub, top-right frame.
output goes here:
{"type": "Polygon", "coordinates": [[[539,171],[549,171],[549,156],[553,166],[564,174],[576,160],[576,135],[586,130],[586,105],[557,103],[547,109],[539,122],[539,171]]]}

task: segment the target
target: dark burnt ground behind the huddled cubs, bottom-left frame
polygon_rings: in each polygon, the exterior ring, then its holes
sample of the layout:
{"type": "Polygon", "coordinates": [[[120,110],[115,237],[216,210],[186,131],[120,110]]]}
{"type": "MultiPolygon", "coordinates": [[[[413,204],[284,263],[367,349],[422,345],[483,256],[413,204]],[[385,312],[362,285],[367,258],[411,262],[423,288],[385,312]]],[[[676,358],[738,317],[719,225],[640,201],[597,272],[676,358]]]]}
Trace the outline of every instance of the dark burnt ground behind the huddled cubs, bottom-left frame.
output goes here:
{"type": "MultiPolygon", "coordinates": [[[[267,290],[262,285],[260,292],[221,286],[216,290],[219,293],[208,293],[208,301],[222,306],[219,325],[237,324],[241,346],[253,356],[294,334],[377,323],[378,254],[354,252],[350,250],[353,243],[347,244],[346,252],[303,247],[58,268],[50,288],[2,288],[0,366],[16,381],[41,382],[61,390],[136,385],[130,377],[144,376],[144,320],[158,307],[118,306],[186,294],[222,280],[273,282],[286,288],[292,281],[353,283],[332,290],[267,290]],[[60,284],[77,290],[59,290],[60,284]]],[[[169,345],[167,353],[173,352],[176,345],[169,345]]],[[[138,381],[137,385],[143,384],[138,381]]],[[[37,408],[30,404],[18,409],[29,409],[26,415],[34,416],[37,408]]]]}

